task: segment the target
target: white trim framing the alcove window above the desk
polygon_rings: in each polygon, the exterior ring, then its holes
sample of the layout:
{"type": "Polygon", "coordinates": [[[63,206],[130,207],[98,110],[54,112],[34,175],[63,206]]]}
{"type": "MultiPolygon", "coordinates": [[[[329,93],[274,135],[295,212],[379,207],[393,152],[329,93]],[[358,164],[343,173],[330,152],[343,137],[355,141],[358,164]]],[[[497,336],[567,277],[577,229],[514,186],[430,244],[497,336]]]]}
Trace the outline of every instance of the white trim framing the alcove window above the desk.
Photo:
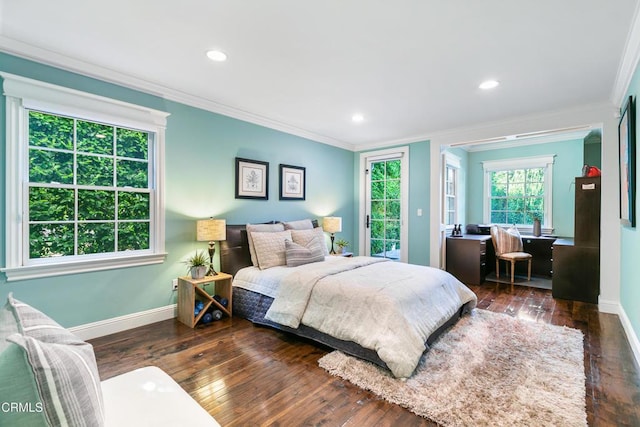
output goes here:
{"type": "MultiPolygon", "coordinates": [[[[542,233],[553,233],[553,163],[555,154],[535,157],[520,157],[505,160],[488,160],[482,162],[484,170],[483,188],[483,222],[491,222],[491,206],[489,205],[489,189],[491,182],[489,173],[501,170],[544,168],[544,219],[542,221],[542,233]]],[[[520,231],[532,232],[533,227],[518,227],[520,231]]]]}

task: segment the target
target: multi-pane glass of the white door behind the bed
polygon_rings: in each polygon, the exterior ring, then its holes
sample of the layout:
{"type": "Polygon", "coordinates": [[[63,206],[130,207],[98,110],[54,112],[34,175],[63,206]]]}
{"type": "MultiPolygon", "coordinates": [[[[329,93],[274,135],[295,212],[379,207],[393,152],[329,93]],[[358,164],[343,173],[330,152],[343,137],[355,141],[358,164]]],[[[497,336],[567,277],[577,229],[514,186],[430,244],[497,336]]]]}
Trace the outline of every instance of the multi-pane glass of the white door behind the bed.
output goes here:
{"type": "Polygon", "coordinates": [[[402,158],[368,159],[366,168],[366,255],[404,261],[402,158]]]}

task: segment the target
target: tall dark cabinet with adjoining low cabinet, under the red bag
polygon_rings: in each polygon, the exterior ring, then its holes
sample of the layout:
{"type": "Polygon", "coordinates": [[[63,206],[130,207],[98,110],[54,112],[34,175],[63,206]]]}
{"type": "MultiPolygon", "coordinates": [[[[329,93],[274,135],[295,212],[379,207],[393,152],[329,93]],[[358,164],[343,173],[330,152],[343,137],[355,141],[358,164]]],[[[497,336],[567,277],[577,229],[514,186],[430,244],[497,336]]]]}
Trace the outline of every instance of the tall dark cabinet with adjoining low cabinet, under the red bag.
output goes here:
{"type": "Polygon", "coordinates": [[[600,295],[600,177],[576,178],[574,238],[553,243],[554,298],[596,304],[600,295]]]}

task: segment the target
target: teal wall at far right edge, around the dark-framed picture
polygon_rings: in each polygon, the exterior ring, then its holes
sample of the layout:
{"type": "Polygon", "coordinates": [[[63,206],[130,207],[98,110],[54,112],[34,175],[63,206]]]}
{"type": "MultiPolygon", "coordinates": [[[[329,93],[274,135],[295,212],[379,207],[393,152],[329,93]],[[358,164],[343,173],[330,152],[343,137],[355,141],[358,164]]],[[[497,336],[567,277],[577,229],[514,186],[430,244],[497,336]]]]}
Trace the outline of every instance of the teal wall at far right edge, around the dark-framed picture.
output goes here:
{"type": "MultiPolygon", "coordinates": [[[[640,132],[638,132],[638,93],[640,93],[640,69],[636,68],[629,88],[627,96],[633,96],[636,103],[636,141],[639,141],[640,132]]],[[[622,108],[624,105],[621,105],[622,108]]],[[[636,165],[639,165],[640,150],[636,150],[636,165]]],[[[621,227],[620,232],[620,303],[624,309],[631,326],[635,331],[636,338],[640,339],[640,263],[638,263],[638,254],[640,254],[640,197],[638,197],[638,173],[636,169],[636,227],[621,227]]]]}

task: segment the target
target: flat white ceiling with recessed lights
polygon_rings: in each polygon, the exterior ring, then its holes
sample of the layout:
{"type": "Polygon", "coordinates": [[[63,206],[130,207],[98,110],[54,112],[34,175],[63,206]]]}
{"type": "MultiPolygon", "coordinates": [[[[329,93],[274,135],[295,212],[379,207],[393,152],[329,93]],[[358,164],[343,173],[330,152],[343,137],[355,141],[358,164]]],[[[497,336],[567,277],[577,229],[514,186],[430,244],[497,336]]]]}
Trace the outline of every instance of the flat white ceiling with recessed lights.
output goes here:
{"type": "Polygon", "coordinates": [[[636,5],[0,0],[0,50],[354,148],[611,102],[636,5]]]}

